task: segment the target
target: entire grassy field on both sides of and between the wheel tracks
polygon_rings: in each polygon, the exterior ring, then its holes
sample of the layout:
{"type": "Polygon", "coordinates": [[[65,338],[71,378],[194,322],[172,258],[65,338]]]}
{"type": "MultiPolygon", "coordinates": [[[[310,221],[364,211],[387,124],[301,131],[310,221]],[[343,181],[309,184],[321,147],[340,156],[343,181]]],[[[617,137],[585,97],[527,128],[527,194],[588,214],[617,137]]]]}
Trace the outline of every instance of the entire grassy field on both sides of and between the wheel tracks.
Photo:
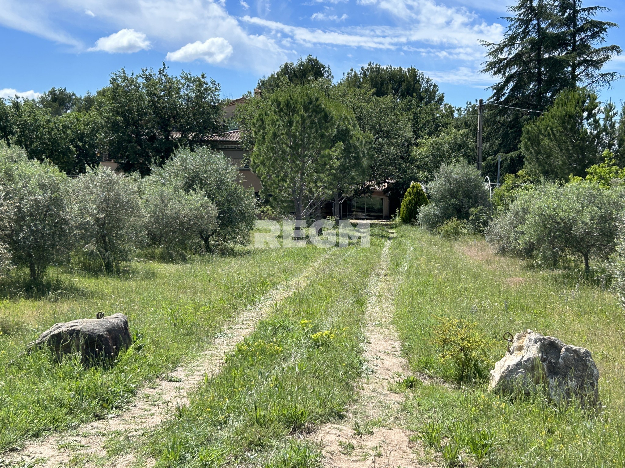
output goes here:
{"type": "MultiPolygon", "coordinates": [[[[136,262],[124,278],[54,271],[64,292],[0,302],[0,451],[128,404],[138,388],[196,358],[227,318],[327,254],[188,406],[141,437],[109,434],[99,459],[134,452],[139,465],[156,459],[161,467],[321,466],[320,447],[301,436],[340,421],[354,401],[367,369],[367,285],[387,238],[386,227],[374,226],[368,249],[250,248],[187,264],[136,262]],[[127,314],[137,340],[114,366],[21,354],[50,324],[98,311],[127,314]]],[[[422,465],[457,466],[459,455],[469,467],[625,467],[625,316],[601,282],[406,225],[390,255],[394,324],[412,373],[422,376],[394,391],[404,391],[401,424],[422,465]],[[524,399],[487,391],[488,370],[506,351],[502,335],[527,328],[590,349],[601,374],[598,411],[557,406],[539,391],[524,399]],[[454,360],[460,347],[474,351],[469,373],[454,360]]]]}

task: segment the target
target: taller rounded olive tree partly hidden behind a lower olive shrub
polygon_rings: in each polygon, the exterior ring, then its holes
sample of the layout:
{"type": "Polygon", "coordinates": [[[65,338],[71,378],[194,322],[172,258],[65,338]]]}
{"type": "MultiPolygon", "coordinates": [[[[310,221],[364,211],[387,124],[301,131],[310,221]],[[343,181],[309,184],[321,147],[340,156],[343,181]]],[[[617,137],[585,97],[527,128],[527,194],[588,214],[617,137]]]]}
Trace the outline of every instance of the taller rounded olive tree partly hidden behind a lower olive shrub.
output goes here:
{"type": "Polygon", "coordinates": [[[256,220],[256,197],[237,181],[239,173],[221,152],[199,148],[179,150],[159,177],[189,192],[203,192],[217,208],[217,228],[202,235],[207,251],[214,246],[247,245],[256,220]]]}

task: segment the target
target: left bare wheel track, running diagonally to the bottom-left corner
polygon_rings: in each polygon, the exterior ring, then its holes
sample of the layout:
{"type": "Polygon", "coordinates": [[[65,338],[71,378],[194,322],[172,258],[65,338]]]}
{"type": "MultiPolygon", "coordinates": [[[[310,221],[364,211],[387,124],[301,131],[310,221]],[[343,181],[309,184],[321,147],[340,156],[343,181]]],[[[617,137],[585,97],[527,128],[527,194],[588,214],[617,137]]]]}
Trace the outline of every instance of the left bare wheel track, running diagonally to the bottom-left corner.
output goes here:
{"type": "MultiPolygon", "coordinates": [[[[123,432],[125,436],[136,437],[150,427],[160,424],[176,407],[184,406],[189,399],[187,394],[197,388],[204,376],[219,373],[224,358],[237,343],[251,334],[256,324],[265,318],[274,306],[291,296],[294,291],[304,288],[311,276],[323,263],[332,249],[300,275],[287,283],[276,286],[262,296],[255,305],[247,307],[241,314],[224,325],[224,331],[215,339],[201,358],[191,364],[180,366],[176,371],[159,378],[152,388],[138,392],[136,402],[127,411],[112,414],[107,419],[89,422],[73,431],[76,435],[54,434],[42,440],[27,442],[20,451],[10,454],[9,459],[0,459],[0,466],[46,466],[53,467],[83,459],[79,466],[90,466],[89,459],[106,456],[104,447],[109,436],[123,432]]],[[[105,466],[125,467],[134,461],[132,454],[125,454],[105,466]]]]}

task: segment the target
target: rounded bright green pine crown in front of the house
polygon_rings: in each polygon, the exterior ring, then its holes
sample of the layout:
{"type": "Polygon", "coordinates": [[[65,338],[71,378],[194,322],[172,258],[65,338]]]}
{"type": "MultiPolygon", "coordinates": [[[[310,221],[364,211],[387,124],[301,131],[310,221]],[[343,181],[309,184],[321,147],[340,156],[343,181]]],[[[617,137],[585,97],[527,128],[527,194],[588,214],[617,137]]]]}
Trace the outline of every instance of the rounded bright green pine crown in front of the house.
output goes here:
{"type": "Polygon", "coordinates": [[[250,166],[265,197],[296,219],[335,192],[364,182],[366,143],[351,112],[319,89],[286,86],[264,100],[251,124],[250,166]]]}

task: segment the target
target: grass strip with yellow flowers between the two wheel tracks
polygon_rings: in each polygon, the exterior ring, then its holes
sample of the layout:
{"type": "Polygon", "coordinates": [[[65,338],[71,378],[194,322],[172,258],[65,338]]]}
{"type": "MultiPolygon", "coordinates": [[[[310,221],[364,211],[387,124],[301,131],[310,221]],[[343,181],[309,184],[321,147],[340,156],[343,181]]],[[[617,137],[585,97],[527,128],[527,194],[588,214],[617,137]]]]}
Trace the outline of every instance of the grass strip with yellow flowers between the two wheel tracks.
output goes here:
{"type": "Polygon", "coordinates": [[[366,286],[386,239],[341,248],[308,286],[278,304],[144,447],[166,467],[320,466],[289,437],[340,418],[361,374],[366,286]]]}

